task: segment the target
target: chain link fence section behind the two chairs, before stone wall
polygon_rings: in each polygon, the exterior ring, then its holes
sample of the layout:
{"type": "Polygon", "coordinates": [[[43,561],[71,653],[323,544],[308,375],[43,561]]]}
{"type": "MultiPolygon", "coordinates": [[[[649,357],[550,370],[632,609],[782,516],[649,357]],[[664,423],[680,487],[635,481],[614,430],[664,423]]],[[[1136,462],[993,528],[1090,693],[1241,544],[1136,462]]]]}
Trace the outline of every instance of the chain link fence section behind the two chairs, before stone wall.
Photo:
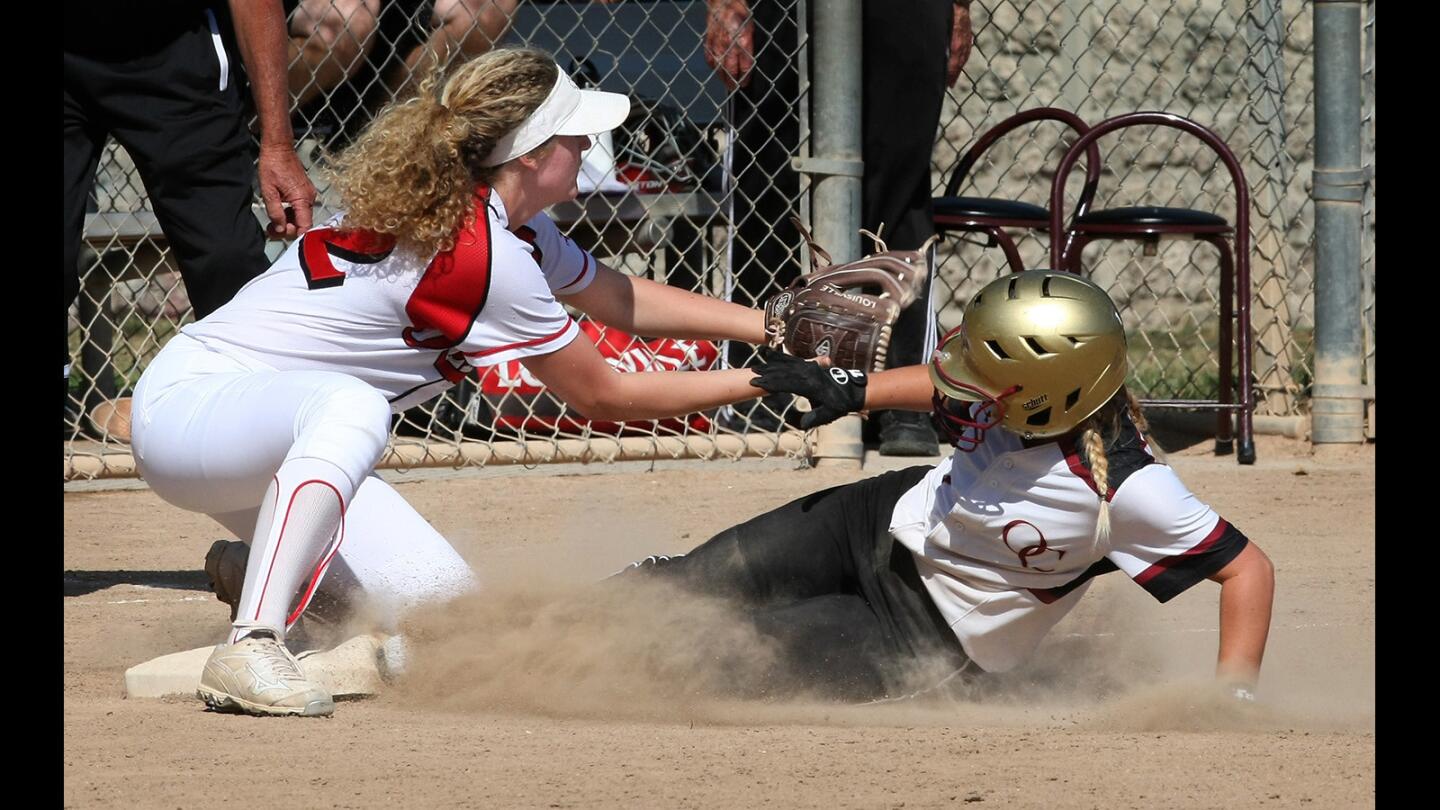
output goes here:
{"type": "MultiPolygon", "coordinates": [[[[1211,128],[1240,159],[1251,195],[1257,412],[1302,414],[1315,327],[1310,6],[1299,0],[1007,0],[976,3],[973,10],[973,69],[966,69],[969,84],[958,85],[946,102],[936,187],[981,133],[1032,107],[1061,107],[1090,124],[1158,110],[1211,128]]],[[[1037,130],[1017,140],[986,151],[972,172],[971,190],[962,193],[1045,205],[1064,148],[1057,144],[1060,133],[1037,130]]],[[[1103,138],[1100,147],[1104,172],[1094,208],[1187,208],[1236,222],[1224,166],[1191,135],[1132,128],[1103,138]]],[[[1067,210],[1076,205],[1079,174],[1067,186],[1067,210]]],[[[1372,245],[1372,216],[1368,236],[1372,245]]],[[[1044,235],[1025,235],[1020,248],[1028,267],[1048,264],[1044,235]]],[[[1002,272],[1004,257],[953,241],[940,255],[939,272],[950,297],[939,316],[942,326],[953,326],[963,301],[1002,272]]],[[[1374,252],[1368,255],[1372,282],[1374,252]]],[[[1126,317],[1138,393],[1214,398],[1220,320],[1214,248],[1169,239],[1146,255],[1135,242],[1097,242],[1086,252],[1084,268],[1110,290],[1126,317]]],[[[1368,300],[1372,307],[1372,288],[1368,300]]]]}

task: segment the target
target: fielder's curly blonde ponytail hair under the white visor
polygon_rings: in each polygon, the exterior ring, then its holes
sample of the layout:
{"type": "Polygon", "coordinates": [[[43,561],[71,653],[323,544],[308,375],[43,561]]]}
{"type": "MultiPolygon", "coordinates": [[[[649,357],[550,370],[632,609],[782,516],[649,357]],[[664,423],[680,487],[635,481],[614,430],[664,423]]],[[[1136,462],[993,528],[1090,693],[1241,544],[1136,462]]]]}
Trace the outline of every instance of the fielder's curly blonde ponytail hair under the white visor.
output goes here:
{"type": "Polygon", "coordinates": [[[344,203],[341,226],[454,248],[475,186],[500,170],[481,161],[544,102],[557,75],[544,50],[507,48],[465,62],[444,86],[439,74],[426,76],[415,98],[382,110],[327,170],[344,203]]]}

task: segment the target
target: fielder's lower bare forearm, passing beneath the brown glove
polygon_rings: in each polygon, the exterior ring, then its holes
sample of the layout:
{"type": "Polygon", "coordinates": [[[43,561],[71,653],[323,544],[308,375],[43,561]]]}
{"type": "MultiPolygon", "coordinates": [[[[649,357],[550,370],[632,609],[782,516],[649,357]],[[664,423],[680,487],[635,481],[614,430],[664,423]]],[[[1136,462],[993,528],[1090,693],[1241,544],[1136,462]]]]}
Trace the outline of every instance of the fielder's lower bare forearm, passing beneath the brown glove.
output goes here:
{"type": "Polygon", "coordinates": [[[621,373],[583,337],[523,362],[552,393],[589,419],[681,417],[762,393],[750,385],[755,376],[750,369],[621,373]]]}

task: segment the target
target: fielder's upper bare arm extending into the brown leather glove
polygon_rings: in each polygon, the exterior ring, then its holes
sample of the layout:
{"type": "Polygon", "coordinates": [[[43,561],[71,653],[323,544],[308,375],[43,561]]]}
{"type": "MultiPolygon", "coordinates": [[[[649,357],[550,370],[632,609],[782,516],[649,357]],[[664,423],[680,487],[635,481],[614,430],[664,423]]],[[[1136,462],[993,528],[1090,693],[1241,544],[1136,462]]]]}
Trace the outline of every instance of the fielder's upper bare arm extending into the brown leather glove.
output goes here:
{"type": "Polygon", "coordinates": [[[678,287],[657,284],[598,262],[595,281],[560,300],[631,334],[765,343],[765,313],[678,287]]]}

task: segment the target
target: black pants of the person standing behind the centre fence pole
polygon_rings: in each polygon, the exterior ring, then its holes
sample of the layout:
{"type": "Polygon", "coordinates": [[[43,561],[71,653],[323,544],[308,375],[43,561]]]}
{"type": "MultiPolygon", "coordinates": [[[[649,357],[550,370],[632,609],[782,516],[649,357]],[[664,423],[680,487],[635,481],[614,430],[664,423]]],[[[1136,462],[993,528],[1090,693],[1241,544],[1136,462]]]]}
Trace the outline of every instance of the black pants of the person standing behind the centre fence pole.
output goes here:
{"type": "MultiPolygon", "coordinates": [[[[734,300],[747,306],[763,303],[802,272],[799,235],[789,222],[799,213],[799,176],[789,163],[799,148],[793,0],[756,0],[752,12],[755,71],[734,98],[737,133],[732,156],[737,186],[734,300]]],[[[953,13],[952,0],[863,3],[865,174],[860,223],[871,232],[884,223],[881,236],[890,248],[919,248],[935,233],[930,153],[945,102],[953,13]]],[[[867,241],[861,249],[870,252],[873,246],[867,241]]],[[[932,317],[927,298],[929,285],[896,323],[887,356],[890,368],[924,362],[924,333],[932,317]]],[[[750,347],[732,346],[730,360],[740,365],[750,347]]]]}

